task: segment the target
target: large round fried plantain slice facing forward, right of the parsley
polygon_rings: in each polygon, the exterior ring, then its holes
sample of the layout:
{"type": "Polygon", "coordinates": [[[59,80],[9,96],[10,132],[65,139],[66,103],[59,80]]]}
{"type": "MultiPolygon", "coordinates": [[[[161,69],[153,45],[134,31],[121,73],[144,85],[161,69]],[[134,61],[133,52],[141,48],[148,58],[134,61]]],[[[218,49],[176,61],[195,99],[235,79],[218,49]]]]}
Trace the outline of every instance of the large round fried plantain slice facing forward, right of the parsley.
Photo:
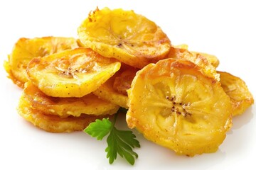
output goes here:
{"type": "Polygon", "coordinates": [[[231,101],[220,82],[188,60],[147,65],[128,96],[129,128],[177,154],[215,152],[232,124],[231,101]]]}

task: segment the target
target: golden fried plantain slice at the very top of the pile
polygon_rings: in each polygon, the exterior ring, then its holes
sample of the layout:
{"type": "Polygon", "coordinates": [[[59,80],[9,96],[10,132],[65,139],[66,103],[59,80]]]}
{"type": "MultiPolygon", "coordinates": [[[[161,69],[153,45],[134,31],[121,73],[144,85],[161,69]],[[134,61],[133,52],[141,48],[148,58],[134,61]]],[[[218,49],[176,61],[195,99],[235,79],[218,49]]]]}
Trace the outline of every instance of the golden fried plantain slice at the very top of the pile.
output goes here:
{"type": "Polygon", "coordinates": [[[98,8],[78,28],[80,41],[100,55],[142,68],[168,54],[171,42],[159,26],[134,11],[98,8]]]}

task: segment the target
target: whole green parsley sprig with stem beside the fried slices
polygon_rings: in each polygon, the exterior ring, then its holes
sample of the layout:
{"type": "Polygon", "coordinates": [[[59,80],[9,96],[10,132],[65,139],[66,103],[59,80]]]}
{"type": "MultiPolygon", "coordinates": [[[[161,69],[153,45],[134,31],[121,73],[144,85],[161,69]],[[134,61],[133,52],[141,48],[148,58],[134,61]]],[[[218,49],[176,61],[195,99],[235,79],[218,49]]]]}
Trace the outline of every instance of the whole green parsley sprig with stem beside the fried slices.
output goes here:
{"type": "Polygon", "coordinates": [[[121,108],[114,116],[113,123],[110,122],[109,118],[103,118],[102,120],[97,119],[94,123],[90,123],[84,130],[88,135],[97,137],[97,140],[102,140],[103,137],[110,134],[107,137],[107,148],[105,149],[110,164],[117,159],[117,154],[119,154],[120,157],[124,157],[127,162],[132,165],[135,162],[135,158],[138,158],[138,154],[132,150],[135,147],[140,147],[136,136],[130,130],[117,130],[117,128],[114,127],[118,113],[126,112],[127,109],[121,108]]]}

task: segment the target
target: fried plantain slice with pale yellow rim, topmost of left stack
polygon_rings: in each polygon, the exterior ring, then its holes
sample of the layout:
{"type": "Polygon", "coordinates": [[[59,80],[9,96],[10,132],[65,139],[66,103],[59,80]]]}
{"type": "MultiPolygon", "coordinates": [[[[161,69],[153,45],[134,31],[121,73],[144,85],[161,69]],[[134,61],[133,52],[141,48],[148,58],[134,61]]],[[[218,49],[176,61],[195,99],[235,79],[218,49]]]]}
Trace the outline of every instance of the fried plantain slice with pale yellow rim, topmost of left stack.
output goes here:
{"type": "Polygon", "coordinates": [[[95,91],[120,68],[120,62],[89,48],[65,50],[28,63],[28,78],[44,94],[82,97],[95,91]]]}

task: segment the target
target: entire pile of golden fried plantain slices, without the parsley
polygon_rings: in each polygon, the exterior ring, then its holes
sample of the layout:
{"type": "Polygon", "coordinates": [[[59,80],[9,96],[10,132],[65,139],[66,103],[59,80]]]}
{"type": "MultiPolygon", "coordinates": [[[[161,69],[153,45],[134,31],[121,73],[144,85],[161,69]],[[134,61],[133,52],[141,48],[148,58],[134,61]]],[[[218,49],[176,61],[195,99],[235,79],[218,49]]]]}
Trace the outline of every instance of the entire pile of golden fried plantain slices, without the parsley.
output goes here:
{"type": "Polygon", "coordinates": [[[24,88],[18,113],[48,132],[84,130],[123,107],[129,128],[193,157],[215,152],[254,103],[242,79],[216,71],[217,57],[172,46],[134,11],[97,8],[78,36],[21,38],[4,62],[24,88]]]}

